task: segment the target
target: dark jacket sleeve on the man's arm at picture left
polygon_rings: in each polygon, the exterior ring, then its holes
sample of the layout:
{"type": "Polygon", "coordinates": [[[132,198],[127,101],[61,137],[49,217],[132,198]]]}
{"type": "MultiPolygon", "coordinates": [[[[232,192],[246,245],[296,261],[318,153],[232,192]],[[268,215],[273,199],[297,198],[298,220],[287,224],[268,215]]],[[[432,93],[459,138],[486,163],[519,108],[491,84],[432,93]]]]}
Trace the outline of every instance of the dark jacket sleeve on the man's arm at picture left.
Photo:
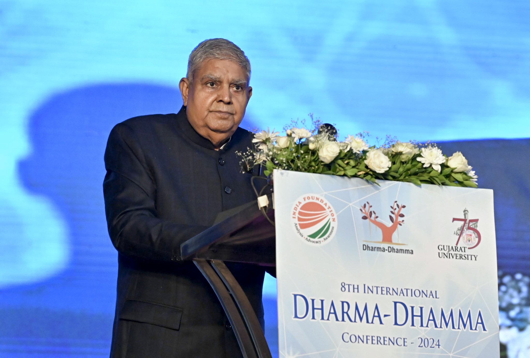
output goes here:
{"type": "Polygon", "coordinates": [[[207,229],[157,217],[156,184],[135,132],[126,124],[111,131],[105,149],[105,214],[112,244],[119,253],[178,261],[180,244],[207,229]]]}

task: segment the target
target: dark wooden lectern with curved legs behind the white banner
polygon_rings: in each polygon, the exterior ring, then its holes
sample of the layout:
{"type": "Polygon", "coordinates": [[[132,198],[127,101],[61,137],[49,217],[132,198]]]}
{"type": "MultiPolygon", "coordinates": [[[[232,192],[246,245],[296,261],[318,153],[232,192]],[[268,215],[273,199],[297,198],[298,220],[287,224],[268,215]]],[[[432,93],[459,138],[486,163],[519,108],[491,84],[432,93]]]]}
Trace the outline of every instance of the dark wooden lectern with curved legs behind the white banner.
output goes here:
{"type": "MultiPolygon", "coordinates": [[[[265,212],[274,219],[274,210],[265,212]]],[[[245,358],[271,358],[254,309],[224,261],[276,265],[275,228],[253,201],[220,213],[216,223],[181,245],[215,291],[245,358]]]]}

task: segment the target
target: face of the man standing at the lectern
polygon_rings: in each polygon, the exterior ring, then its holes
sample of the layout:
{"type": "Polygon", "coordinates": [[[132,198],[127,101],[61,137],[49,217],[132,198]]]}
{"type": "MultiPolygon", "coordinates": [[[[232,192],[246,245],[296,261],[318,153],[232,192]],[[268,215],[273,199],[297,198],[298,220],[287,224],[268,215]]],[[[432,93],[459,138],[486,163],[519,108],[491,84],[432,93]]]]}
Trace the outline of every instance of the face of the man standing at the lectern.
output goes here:
{"type": "Polygon", "coordinates": [[[216,148],[237,129],[252,95],[245,70],[231,60],[205,60],[193,82],[182,78],[179,87],[191,126],[216,148]]]}

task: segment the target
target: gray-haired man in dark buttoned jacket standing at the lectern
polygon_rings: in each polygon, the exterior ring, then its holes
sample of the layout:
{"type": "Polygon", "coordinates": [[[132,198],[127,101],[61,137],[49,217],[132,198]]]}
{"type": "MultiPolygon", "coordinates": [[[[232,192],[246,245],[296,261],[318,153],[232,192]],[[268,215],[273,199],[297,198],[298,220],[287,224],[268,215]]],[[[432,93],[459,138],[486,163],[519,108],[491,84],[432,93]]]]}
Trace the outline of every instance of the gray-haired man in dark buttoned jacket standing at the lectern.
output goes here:
{"type": "MultiPolygon", "coordinates": [[[[250,62],[224,39],[201,42],[180,81],[177,114],[115,126],[103,182],[109,235],[118,250],[111,357],[241,356],[222,306],[180,244],[216,215],[255,199],[236,151],[252,95],[250,62]]],[[[229,265],[263,325],[262,267],[229,265]]]]}

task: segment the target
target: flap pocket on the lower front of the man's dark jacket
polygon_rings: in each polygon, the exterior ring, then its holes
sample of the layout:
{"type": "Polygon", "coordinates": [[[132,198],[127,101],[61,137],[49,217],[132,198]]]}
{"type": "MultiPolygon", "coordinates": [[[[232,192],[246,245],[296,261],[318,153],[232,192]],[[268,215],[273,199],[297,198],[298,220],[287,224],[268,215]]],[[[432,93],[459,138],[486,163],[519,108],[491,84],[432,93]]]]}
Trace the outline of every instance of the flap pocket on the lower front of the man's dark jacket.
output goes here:
{"type": "Polygon", "coordinates": [[[148,323],[178,330],[182,309],[158,303],[127,300],[120,311],[120,319],[148,323]]]}

